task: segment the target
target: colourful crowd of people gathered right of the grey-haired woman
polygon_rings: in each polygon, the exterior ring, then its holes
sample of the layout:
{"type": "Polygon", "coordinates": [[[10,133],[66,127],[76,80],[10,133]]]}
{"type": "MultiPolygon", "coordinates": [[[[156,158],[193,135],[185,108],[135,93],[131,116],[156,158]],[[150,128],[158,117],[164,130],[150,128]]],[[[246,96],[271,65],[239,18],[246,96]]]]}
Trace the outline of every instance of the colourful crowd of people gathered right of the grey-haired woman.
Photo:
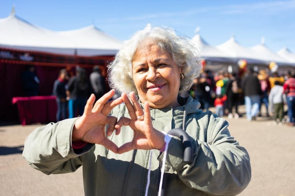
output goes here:
{"type": "Polygon", "coordinates": [[[219,116],[239,118],[239,105],[245,103],[246,117],[249,121],[262,116],[261,107],[266,107],[265,116],[273,114],[276,124],[288,122],[294,126],[295,112],[295,72],[286,75],[277,72],[268,74],[268,70],[255,72],[249,68],[245,74],[213,72],[206,70],[199,79],[194,80],[191,96],[201,103],[201,109],[207,111],[210,106],[215,107],[219,116]],[[284,104],[288,110],[284,111],[284,104]],[[235,113],[233,113],[233,107],[235,113]],[[284,118],[284,114],[288,117],[284,118]]]}

